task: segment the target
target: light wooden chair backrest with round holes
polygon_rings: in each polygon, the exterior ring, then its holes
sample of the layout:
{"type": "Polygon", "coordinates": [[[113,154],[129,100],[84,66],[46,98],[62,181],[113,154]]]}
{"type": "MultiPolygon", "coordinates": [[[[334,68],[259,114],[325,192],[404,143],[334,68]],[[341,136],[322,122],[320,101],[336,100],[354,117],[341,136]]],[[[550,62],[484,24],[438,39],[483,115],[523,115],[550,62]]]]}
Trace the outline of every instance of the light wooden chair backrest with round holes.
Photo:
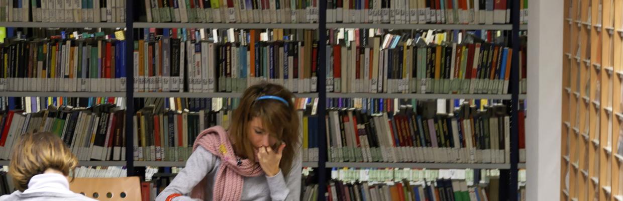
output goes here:
{"type": "Polygon", "coordinates": [[[73,192],[96,200],[141,200],[141,184],[138,177],[75,178],[69,185],[73,192]]]}

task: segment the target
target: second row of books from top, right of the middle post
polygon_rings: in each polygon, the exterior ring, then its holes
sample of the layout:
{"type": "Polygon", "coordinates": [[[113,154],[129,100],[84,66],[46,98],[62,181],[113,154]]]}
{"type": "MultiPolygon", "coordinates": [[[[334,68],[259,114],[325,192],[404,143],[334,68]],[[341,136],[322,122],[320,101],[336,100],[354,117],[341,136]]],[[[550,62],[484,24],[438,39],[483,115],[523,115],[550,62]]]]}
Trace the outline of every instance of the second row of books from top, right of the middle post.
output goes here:
{"type": "MultiPolygon", "coordinates": [[[[485,40],[432,30],[379,35],[366,29],[340,29],[330,33],[328,91],[508,93],[513,49],[493,43],[495,32],[485,32],[485,40]]],[[[525,47],[519,55],[523,86],[525,47]]]]}

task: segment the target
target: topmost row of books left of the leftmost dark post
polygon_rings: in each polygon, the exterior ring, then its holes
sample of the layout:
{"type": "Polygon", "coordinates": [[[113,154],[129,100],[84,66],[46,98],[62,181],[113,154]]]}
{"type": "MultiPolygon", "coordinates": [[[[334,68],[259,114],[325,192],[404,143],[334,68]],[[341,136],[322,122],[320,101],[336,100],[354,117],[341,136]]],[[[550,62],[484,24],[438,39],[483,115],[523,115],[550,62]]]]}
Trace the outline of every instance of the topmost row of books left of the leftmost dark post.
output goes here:
{"type": "Polygon", "coordinates": [[[1,22],[125,22],[123,0],[5,0],[1,22]]]}

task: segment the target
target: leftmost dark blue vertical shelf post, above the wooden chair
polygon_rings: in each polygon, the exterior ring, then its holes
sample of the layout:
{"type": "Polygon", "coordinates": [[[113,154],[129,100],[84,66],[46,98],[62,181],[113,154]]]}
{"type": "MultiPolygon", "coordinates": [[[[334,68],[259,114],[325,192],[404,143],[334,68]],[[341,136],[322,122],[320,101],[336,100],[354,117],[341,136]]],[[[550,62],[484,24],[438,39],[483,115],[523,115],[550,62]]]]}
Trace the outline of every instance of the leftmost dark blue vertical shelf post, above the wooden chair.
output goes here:
{"type": "Polygon", "coordinates": [[[128,177],[134,176],[134,1],[125,1],[125,161],[128,177]]]}

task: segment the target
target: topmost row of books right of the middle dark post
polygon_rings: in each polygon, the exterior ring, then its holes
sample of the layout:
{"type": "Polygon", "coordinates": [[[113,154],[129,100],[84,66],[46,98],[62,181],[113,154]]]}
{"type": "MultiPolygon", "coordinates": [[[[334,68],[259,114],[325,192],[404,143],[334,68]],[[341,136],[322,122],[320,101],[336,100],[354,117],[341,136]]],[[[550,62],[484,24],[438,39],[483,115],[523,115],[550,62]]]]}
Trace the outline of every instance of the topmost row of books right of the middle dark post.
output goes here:
{"type": "MultiPolygon", "coordinates": [[[[326,21],[389,24],[508,24],[511,0],[329,0],[326,21]]],[[[521,0],[520,22],[528,22],[521,0]]]]}

